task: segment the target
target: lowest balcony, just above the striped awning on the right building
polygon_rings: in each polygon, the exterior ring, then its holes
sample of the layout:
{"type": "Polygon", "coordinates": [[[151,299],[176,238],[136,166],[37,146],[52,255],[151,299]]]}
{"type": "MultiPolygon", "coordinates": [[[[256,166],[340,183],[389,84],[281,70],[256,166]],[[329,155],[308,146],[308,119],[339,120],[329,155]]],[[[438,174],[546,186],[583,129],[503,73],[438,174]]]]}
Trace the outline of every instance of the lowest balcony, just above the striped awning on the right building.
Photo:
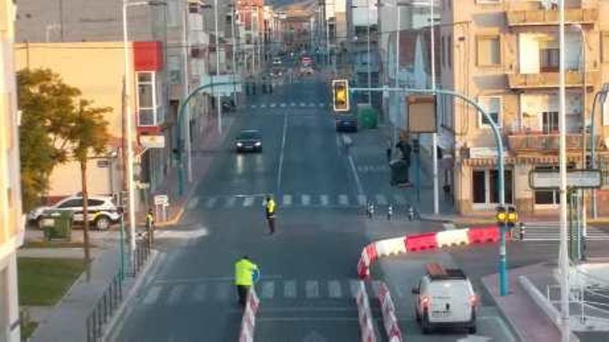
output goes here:
{"type": "MultiPolygon", "coordinates": [[[[513,133],[507,136],[509,149],[515,153],[543,152],[558,153],[560,136],[542,133],[513,133]]],[[[590,136],[586,136],[586,144],[590,144],[590,136]]],[[[605,151],[603,137],[596,137],[597,150],[605,151]]],[[[588,149],[590,146],[587,146],[588,149]]],[[[581,151],[581,134],[567,133],[567,151],[581,151]]]]}

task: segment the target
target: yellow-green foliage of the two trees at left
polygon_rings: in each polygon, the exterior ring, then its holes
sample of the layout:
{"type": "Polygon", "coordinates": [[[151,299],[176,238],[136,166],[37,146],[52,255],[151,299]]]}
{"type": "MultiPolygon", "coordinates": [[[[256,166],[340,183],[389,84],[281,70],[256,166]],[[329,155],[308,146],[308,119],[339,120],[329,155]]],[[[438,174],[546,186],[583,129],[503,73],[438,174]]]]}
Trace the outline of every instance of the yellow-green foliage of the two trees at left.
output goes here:
{"type": "Polygon", "coordinates": [[[81,161],[87,153],[102,153],[107,143],[110,108],[94,108],[80,99],[78,88],[65,84],[49,69],[24,69],[17,73],[21,110],[19,148],[24,210],[39,203],[48,189],[48,178],[57,164],[81,161]]]}

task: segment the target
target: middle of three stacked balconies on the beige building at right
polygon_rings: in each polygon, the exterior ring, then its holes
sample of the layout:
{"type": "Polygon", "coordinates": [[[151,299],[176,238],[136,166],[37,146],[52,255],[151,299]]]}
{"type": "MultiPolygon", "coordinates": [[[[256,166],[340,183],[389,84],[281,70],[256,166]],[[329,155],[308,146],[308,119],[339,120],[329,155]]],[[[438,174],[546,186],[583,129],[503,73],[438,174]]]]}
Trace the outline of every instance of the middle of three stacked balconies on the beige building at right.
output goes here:
{"type": "MultiPolygon", "coordinates": [[[[600,71],[587,71],[586,84],[592,86],[599,81],[600,71]]],[[[558,73],[537,73],[537,74],[508,74],[507,80],[509,87],[513,89],[530,88],[556,88],[558,87],[558,73]]],[[[565,84],[568,87],[581,87],[583,85],[583,73],[567,71],[565,74],[565,84]]]]}

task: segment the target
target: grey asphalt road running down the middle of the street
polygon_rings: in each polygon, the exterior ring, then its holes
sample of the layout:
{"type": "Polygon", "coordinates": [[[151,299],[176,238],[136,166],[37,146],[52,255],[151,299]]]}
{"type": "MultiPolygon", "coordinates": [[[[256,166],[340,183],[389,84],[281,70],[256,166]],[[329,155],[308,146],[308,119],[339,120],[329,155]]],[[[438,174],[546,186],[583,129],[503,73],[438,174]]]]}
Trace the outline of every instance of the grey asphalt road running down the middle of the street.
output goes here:
{"type": "MultiPolygon", "coordinates": [[[[361,202],[366,200],[377,202],[379,212],[390,202],[399,204],[397,216],[403,215],[412,193],[388,187],[382,150],[368,146],[345,153],[327,101],[320,78],[307,77],[276,86],[272,95],[257,93],[234,114],[225,144],[206,151],[215,154],[214,162],[181,225],[158,236],[163,259],[120,321],[113,334],[116,341],[237,340],[241,310],[233,263],[243,254],[262,269],[256,286],[261,300],[257,341],[360,339],[352,287],[361,247],[380,236],[442,227],[386,222],[380,216],[371,222],[362,215],[361,202]],[[264,151],[234,153],[231,139],[239,129],[260,129],[264,151]],[[273,236],[264,220],[267,193],[279,206],[278,233],[273,236]]],[[[370,138],[367,134],[373,133],[353,135],[355,142],[370,138]]],[[[461,258],[448,262],[483,263],[461,258]]],[[[423,260],[399,262],[379,268],[377,276],[388,281],[399,302],[402,328],[416,339],[438,341],[420,335],[408,307],[408,292],[423,260]]],[[[484,303],[484,313],[480,332],[510,341],[492,303],[484,303]]],[[[382,332],[376,307],[374,316],[382,332]]],[[[464,336],[444,332],[438,338],[456,341],[464,336]]]]}

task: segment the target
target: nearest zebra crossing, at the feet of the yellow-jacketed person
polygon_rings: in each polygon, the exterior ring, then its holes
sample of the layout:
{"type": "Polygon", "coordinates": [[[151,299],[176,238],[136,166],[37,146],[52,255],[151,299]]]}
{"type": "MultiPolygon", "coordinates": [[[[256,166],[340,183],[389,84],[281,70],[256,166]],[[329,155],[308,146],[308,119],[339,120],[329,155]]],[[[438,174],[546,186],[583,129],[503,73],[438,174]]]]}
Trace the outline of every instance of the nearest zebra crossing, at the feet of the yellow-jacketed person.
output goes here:
{"type": "MultiPolygon", "coordinates": [[[[372,282],[374,295],[379,289],[379,281],[372,282]]],[[[261,280],[256,292],[262,301],[273,300],[349,300],[356,297],[356,279],[271,279],[261,280]]],[[[372,294],[371,294],[372,295],[372,294]]],[[[403,292],[392,290],[395,298],[402,298],[403,292]]],[[[235,301],[237,294],[233,281],[205,281],[165,283],[156,281],[140,295],[143,305],[178,305],[183,303],[221,303],[235,301]]]]}

